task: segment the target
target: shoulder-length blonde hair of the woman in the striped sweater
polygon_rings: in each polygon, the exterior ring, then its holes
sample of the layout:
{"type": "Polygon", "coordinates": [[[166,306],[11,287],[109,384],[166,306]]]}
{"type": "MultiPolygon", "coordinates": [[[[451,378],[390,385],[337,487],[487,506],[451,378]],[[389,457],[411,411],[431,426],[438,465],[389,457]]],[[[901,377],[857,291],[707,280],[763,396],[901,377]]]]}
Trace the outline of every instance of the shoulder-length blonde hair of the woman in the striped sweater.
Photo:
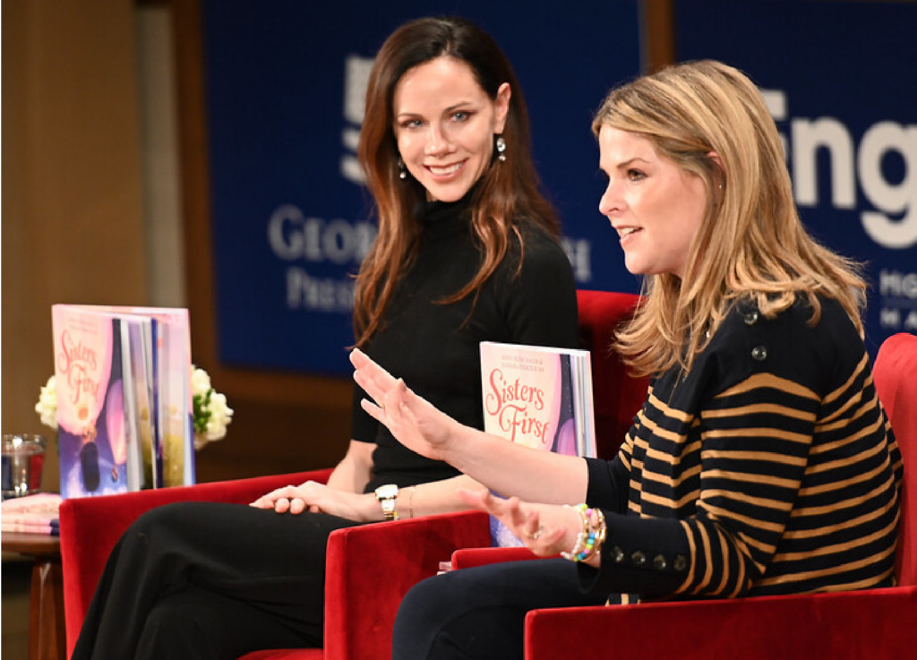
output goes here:
{"type": "Polygon", "coordinates": [[[773,317],[805,296],[814,325],[821,316],[817,296],[834,298],[862,335],[861,268],[806,233],[777,126],[745,74],[701,60],[643,76],[609,93],[592,121],[596,137],[602,126],[646,137],[659,155],[700,177],[707,191],[684,279],[647,276],[644,302],[616,336],[637,373],[691,369],[742,299],[773,317]]]}

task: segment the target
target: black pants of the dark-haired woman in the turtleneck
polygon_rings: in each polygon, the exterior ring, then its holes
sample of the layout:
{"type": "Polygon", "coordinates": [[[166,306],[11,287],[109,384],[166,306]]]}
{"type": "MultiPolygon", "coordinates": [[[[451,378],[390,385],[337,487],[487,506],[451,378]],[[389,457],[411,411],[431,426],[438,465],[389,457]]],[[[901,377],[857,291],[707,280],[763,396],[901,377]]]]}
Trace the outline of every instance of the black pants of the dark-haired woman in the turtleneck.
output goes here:
{"type": "Polygon", "coordinates": [[[327,537],[353,524],[212,502],[146,512],[108,557],[72,660],[321,646],[327,537]]]}

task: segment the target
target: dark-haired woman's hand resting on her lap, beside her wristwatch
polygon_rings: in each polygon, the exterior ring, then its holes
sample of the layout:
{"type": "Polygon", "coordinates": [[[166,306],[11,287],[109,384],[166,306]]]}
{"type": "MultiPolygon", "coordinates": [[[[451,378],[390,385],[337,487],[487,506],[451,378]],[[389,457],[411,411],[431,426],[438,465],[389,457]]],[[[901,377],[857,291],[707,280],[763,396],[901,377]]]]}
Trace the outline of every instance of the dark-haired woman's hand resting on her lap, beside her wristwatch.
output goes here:
{"type": "Polygon", "coordinates": [[[284,486],[262,495],[249,506],[273,509],[278,513],[324,512],[361,523],[372,520],[372,512],[381,509],[371,493],[335,490],[317,481],[305,481],[299,486],[284,486]]]}

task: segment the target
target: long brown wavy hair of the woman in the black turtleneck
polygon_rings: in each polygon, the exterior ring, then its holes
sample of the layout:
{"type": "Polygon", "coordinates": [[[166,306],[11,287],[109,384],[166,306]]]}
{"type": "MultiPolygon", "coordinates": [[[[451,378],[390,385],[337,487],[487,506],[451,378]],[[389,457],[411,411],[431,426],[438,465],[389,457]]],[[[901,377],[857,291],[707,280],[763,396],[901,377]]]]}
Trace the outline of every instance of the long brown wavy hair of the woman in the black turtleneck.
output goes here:
{"type": "Polygon", "coordinates": [[[385,40],[376,56],[357,149],[379,221],[379,235],[357,276],[357,346],[380,329],[400,273],[414,259],[421,231],[414,210],[425,200],[425,189],[412,177],[402,181],[398,176],[392,111],[395,86],[406,71],[439,57],[465,62],[492,100],[503,82],[508,82],[512,91],[502,134],[506,160],[492,159],[471,192],[471,224],[483,248],[481,268],[458,292],[439,302],[454,303],[480,291],[505,256],[510,232],[523,243],[520,220],[542,226],[555,238],[559,234],[554,210],[538,190],[525,100],[503,51],[490,35],[462,18],[420,18],[406,23],[385,40]]]}

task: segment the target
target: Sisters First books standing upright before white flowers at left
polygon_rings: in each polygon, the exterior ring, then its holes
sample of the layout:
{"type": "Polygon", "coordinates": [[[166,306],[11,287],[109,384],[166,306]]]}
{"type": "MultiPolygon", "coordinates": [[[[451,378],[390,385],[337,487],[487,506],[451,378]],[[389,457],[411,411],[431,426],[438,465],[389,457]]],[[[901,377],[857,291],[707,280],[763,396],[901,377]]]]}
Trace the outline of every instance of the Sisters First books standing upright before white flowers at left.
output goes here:
{"type": "Polygon", "coordinates": [[[187,310],[52,307],[61,496],[194,482],[187,310]]]}

